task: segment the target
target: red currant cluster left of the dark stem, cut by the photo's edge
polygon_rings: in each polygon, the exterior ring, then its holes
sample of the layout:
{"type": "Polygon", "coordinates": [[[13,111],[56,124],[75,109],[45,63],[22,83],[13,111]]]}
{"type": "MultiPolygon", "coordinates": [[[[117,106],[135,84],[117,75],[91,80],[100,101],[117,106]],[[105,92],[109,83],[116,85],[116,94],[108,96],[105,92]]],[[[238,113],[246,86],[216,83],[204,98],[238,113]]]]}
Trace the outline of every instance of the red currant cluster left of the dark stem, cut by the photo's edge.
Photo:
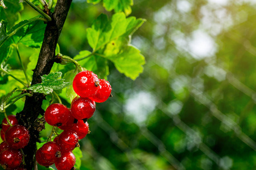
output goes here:
{"type": "Polygon", "coordinates": [[[29,131],[22,125],[18,124],[16,116],[10,115],[2,121],[1,138],[3,142],[0,144],[0,164],[5,169],[24,169],[20,167],[22,163],[22,153],[20,148],[27,146],[30,141],[29,131]]]}

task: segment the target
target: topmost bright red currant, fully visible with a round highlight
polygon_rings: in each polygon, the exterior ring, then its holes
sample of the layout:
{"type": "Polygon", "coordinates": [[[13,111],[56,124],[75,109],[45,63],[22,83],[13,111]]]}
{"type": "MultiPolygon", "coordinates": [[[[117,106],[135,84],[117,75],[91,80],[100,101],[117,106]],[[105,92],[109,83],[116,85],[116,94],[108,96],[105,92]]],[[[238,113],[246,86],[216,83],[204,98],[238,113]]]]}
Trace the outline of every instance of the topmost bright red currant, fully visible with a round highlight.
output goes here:
{"type": "Polygon", "coordinates": [[[92,71],[81,71],[73,80],[73,89],[81,97],[95,95],[98,90],[98,76],[92,71]]]}

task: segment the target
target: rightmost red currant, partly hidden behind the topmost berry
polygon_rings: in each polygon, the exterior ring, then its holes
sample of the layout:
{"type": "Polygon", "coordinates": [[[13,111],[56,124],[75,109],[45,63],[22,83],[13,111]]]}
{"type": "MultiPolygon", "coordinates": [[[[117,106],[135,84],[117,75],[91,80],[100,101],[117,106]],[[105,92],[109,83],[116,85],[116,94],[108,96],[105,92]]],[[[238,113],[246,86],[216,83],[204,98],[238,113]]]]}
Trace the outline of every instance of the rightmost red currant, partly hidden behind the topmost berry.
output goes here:
{"type": "Polygon", "coordinates": [[[99,81],[100,81],[100,86],[98,87],[98,91],[94,96],[89,97],[89,99],[97,103],[102,103],[109,98],[112,88],[109,82],[106,81],[105,79],[100,79],[99,81]]]}

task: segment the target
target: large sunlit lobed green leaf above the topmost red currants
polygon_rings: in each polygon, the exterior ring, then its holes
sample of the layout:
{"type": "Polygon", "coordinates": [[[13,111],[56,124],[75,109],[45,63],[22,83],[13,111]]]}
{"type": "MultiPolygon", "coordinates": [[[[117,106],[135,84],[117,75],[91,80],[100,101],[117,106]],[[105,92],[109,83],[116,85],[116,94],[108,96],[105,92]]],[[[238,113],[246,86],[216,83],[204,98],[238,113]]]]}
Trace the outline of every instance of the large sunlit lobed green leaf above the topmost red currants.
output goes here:
{"type": "MultiPolygon", "coordinates": [[[[94,65],[98,70],[100,67],[105,69],[105,75],[108,75],[106,69],[106,60],[101,61],[99,58],[105,58],[112,61],[120,73],[125,74],[131,79],[136,79],[142,73],[145,61],[140,51],[130,45],[130,37],[145,22],[144,19],[135,17],[127,18],[125,14],[114,14],[111,20],[106,15],[100,15],[93,23],[92,28],[88,28],[88,42],[93,48],[93,56],[88,57],[82,62],[90,65],[86,68],[93,70],[94,65]],[[100,63],[98,63],[100,62],[100,63]]],[[[81,55],[80,55],[81,56],[81,55]]],[[[79,57],[75,57],[77,59],[79,57]]],[[[81,57],[82,58],[82,57],[81,57]]],[[[104,71],[100,71],[104,73],[104,71]]]]}

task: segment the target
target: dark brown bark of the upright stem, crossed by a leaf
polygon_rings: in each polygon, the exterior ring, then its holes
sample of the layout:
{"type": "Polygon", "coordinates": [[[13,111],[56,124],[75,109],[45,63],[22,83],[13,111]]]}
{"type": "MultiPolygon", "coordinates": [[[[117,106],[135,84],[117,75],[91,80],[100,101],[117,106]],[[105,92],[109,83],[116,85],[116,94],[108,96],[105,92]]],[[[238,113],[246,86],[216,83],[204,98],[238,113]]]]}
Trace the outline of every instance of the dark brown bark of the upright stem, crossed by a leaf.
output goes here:
{"type": "MultiPolygon", "coordinates": [[[[46,31],[44,32],[44,40],[31,84],[40,83],[40,76],[49,74],[51,71],[52,65],[55,61],[55,49],[57,41],[63,28],[65,19],[67,18],[71,2],[72,0],[57,1],[55,11],[51,15],[52,21],[47,23],[46,31]]],[[[16,114],[19,124],[26,126],[31,135],[30,142],[23,149],[24,154],[27,155],[25,158],[25,167],[27,169],[32,169],[32,167],[34,167],[36,141],[38,141],[39,138],[39,131],[36,128],[37,126],[35,120],[38,118],[39,114],[44,114],[42,109],[42,102],[44,98],[45,97],[42,94],[34,94],[32,97],[27,97],[23,111],[16,114]]]]}

